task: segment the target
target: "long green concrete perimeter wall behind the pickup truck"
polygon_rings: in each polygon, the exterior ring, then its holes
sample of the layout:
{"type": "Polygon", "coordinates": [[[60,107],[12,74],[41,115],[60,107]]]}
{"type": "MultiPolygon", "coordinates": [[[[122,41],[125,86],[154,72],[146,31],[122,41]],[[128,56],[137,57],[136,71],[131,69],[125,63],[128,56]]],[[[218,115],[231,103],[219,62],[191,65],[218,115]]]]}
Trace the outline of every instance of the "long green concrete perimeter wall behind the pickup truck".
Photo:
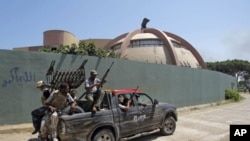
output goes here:
{"type": "MultiPolygon", "coordinates": [[[[224,100],[225,89],[236,89],[236,80],[229,75],[173,65],[8,50],[0,50],[0,57],[0,125],[31,122],[31,111],[41,105],[41,92],[35,84],[46,81],[51,60],[56,60],[55,70],[73,70],[88,59],[87,77],[90,70],[96,69],[100,78],[114,61],[105,89],[139,86],[159,101],[177,107],[224,100]]],[[[80,86],[78,97],[83,92],[80,86]]]]}

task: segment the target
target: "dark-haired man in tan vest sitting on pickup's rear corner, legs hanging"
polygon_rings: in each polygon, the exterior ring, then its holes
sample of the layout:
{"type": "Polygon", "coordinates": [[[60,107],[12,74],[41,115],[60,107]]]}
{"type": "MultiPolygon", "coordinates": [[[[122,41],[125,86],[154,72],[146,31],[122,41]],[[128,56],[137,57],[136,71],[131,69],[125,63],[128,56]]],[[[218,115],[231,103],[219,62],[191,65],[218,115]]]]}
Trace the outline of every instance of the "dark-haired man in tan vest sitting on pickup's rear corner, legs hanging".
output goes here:
{"type": "Polygon", "coordinates": [[[59,112],[63,112],[63,110],[70,105],[71,108],[75,108],[76,103],[73,98],[70,96],[69,85],[67,83],[61,83],[59,86],[59,90],[55,90],[50,97],[46,100],[45,104],[51,112],[49,116],[49,121],[45,121],[45,125],[42,125],[41,129],[41,138],[42,140],[47,139],[48,132],[48,122],[50,123],[50,132],[53,138],[53,141],[58,141],[57,139],[57,125],[59,122],[59,112]]]}

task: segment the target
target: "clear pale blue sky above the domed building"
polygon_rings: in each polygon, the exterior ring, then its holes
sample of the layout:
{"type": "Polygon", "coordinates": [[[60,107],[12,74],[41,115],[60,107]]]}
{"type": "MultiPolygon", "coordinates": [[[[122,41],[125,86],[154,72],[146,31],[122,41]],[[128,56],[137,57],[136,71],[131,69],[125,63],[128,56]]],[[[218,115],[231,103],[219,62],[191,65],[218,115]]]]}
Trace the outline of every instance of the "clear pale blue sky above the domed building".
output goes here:
{"type": "Polygon", "coordinates": [[[1,0],[0,49],[43,44],[43,32],[113,39],[148,28],[188,41],[205,62],[250,61],[250,0],[1,0]]]}

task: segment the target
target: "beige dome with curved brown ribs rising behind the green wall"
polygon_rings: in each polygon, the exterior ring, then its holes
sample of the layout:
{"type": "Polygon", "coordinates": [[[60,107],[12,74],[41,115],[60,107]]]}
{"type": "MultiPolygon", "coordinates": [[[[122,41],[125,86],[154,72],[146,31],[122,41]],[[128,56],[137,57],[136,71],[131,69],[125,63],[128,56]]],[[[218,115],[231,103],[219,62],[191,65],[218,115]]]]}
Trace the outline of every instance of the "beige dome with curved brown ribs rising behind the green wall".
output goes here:
{"type": "Polygon", "coordinates": [[[137,29],[111,40],[105,50],[120,58],[157,64],[206,69],[200,54],[181,37],[155,28],[137,29]]]}

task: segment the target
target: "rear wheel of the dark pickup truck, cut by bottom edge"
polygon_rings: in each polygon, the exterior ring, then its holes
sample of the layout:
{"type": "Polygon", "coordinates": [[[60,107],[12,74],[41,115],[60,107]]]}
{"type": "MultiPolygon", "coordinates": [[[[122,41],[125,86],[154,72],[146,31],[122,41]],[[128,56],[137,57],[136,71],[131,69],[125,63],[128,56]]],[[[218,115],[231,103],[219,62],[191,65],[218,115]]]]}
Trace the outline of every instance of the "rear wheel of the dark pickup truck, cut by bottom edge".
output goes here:
{"type": "Polygon", "coordinates": [[[102,129],[94,135],[93,141],[115,141],[115,137],[110,129],[102,129]]]}

